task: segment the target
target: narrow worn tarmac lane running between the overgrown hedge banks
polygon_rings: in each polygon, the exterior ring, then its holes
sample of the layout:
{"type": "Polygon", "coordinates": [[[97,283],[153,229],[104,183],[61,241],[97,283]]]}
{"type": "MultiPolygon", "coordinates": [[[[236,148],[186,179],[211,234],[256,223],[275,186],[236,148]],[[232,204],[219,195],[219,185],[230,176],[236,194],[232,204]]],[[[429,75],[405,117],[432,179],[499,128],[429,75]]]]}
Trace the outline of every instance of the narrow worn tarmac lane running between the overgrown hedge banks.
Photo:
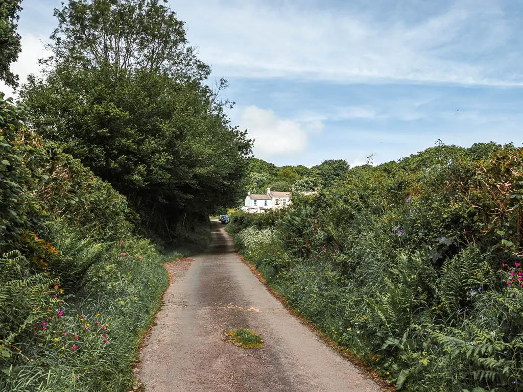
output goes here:
{"type": "Polygon", "coordinates": [[[173,282],[140,357],[145,391],[382,390],[291,316],[236,256],[223,227],[212,228],[207,253],[190,267],[169,267],[173,282]],[[263,347],[226,341],[224,331],[236,328],[258,332],[263,347]]]}

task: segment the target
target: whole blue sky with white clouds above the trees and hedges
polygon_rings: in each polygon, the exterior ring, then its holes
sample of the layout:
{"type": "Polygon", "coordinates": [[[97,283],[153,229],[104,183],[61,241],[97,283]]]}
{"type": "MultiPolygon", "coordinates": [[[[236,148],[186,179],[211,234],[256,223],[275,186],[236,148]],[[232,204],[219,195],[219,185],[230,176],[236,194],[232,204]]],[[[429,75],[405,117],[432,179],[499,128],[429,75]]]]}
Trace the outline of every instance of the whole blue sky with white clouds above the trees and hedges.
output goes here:
{"type": "MultiPolygon", "coordinates": [[[[38,71],[60,3],[22,2],[22,53],[12,67],[22,79],[38,71]]],[[[212,78],[229,80],[230,117],[256,138],[261,159],[354,166],[437,140],[523,142],[518,0],[169,3],[212,78]]]]}

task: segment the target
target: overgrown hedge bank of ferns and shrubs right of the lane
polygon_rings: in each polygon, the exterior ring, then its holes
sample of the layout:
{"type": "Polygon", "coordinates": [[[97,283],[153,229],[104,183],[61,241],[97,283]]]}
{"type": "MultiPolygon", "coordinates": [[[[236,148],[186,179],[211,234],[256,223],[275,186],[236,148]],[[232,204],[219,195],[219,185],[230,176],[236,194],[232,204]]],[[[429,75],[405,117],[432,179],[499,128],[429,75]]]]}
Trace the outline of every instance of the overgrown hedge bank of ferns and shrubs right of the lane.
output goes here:
{"type": "Polygon", "coordinates": [[[440,145],[235,213],[288,303],[397,389],[523,390],[523,148],[440,145]]]}

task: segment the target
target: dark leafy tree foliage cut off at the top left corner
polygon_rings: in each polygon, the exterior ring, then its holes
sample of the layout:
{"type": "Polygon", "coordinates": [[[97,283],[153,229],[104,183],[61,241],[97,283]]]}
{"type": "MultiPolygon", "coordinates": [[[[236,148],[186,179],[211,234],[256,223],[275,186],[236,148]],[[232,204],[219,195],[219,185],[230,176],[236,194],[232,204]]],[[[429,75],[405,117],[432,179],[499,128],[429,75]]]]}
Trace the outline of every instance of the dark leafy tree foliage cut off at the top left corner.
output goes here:
{"type": "Polygon", "coordinates": [[[0,2],[0,80],[8,86],[18,85],[18,75],[9,70],[11,63],[18,60],[20,53],[20,35],[18,28],[18,13],[21,0],[2,0],[0,2]]]}

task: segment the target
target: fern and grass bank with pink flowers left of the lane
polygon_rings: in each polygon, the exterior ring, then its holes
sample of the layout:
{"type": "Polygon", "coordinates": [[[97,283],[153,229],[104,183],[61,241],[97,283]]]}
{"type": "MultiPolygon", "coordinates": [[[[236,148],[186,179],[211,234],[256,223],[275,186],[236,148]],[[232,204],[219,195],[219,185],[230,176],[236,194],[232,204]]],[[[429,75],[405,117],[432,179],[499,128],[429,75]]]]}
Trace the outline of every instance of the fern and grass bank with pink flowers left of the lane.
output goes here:
{"type": "Polygon", "coordinates": [[[133,236],[126,198],[23,121],[0,100],[0,390],[127,391],[166,257],[133,236]]]}

